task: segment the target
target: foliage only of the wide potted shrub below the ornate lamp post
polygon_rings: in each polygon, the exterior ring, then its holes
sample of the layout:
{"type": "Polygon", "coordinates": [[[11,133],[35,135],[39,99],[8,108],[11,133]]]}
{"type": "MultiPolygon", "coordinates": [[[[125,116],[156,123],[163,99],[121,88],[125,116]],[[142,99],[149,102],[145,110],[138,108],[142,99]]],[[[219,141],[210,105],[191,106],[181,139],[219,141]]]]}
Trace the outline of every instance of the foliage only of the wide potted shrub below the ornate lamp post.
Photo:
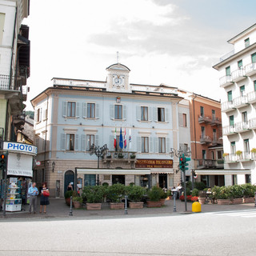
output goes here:
{"type": "Polygon", "coordinates": [[[105,186],[84,186],[82,189],[82,198],[86,198],[86,202],[89,203],[102,202],[105,193],[105,186]]]}

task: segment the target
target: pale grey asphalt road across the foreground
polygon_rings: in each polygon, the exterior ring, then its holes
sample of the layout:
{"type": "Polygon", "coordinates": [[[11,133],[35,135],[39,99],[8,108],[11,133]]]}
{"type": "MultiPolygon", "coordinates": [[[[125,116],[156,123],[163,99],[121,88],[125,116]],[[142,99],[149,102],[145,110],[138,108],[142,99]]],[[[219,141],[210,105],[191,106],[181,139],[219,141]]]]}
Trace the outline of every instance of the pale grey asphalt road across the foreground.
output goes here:
{"type": "Polygon", "coordinates": [[[255,255],[256,210],[5,220],[0,255],[255,255]]]}

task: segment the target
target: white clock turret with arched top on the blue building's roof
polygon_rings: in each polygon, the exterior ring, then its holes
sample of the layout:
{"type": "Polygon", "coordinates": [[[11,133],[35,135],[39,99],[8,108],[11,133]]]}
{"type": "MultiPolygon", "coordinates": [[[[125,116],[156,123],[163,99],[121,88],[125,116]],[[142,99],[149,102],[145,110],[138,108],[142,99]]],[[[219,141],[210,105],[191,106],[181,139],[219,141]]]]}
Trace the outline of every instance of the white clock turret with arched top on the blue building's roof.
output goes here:
{"type": "Polygon", "coordinates": [[[106,68],[107,90],[130,92],[129,73],[130,69],[121,63],[113,64],[106,68]]]}

